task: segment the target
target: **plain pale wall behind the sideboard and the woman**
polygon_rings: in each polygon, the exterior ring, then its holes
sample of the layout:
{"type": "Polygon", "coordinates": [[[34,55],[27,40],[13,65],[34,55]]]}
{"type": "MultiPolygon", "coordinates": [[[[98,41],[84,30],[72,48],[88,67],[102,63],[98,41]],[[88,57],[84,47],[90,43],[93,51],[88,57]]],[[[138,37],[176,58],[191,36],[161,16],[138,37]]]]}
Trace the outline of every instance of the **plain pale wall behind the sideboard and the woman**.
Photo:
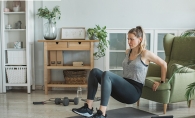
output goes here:
{"type": "MultiPolygon", "coordinates": [[[[61,27],[107,28],[194,28],[195,0],[61,0],[36,1],[35,13],[40,7],[60,6],[61,19],[57,21],[58,34],[61,27]]],[[[35,77],[36,85],[43,85],[43,39],[42,26],[46,22],[35,16],[35,77]]],[[[59,37],[58,37],[59,39],[59,37]]],[[[103,58],[95,61],[95,67],[103,69],[103,58]]],[[[62,70],[52,72],[55,79],[63,79],[62,70]]]]}

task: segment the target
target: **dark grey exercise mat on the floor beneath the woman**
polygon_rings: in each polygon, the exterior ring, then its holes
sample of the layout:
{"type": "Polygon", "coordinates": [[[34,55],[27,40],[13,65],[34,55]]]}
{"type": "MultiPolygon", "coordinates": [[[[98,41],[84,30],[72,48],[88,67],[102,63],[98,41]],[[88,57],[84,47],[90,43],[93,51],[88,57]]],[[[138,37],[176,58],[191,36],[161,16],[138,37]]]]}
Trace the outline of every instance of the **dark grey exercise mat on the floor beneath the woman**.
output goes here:
{"type": "MultiPolygon", "coordinates": [[[[151,116],[156,116],[156,115],[132,107],[125,107],[125,108],[113,109],[107,111],[107,118],[151,118],[151,116]]],[[[83,117],[76,115],[68,118],[83,118],[83,117]]]]}

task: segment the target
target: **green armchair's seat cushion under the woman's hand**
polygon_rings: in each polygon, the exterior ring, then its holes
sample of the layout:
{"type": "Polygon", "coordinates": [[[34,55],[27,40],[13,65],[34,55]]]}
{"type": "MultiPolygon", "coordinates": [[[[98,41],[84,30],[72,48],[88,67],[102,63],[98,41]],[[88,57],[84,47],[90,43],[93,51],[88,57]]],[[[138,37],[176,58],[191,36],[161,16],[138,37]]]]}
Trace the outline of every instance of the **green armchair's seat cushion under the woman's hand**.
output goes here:
{"type": "MultiPolygon", "coordinates": [[[[160,82],[160,80],[161,80],[160,77],[146,77],[144,86],[147,86],[148,88],[152,89],[154,82],[160,82]]],[[[157,90],[170,90],[170,89],[171,89],[171,85],[168,82],[168,79],[166,79],[165,83],[160,84],[160,86],[157,88],[157,90]]]]}

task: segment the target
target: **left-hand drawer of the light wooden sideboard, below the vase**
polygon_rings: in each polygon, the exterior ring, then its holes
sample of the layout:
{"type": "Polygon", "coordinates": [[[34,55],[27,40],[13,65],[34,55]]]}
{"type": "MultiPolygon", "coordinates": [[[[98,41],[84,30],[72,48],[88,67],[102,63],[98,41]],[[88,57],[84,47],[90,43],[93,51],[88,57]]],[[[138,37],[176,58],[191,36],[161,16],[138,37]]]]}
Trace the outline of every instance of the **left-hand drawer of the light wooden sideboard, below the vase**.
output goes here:
{"type": "Polygon", "coordinates": [[[65,50],[67,42],[47,42],[47,50],[65,50]]]}

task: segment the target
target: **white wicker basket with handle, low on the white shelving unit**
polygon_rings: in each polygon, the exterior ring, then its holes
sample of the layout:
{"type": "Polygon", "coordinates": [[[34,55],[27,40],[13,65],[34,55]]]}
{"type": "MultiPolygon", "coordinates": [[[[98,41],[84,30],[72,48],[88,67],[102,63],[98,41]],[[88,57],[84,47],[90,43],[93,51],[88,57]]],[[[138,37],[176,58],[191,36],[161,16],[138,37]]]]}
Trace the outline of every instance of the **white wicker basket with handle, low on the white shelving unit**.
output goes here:
{"type": "Polygon", "coordinates": [[[6,66],[8,83],[26,83],[26,66],[6,66]]]}

